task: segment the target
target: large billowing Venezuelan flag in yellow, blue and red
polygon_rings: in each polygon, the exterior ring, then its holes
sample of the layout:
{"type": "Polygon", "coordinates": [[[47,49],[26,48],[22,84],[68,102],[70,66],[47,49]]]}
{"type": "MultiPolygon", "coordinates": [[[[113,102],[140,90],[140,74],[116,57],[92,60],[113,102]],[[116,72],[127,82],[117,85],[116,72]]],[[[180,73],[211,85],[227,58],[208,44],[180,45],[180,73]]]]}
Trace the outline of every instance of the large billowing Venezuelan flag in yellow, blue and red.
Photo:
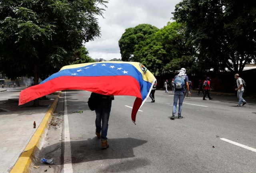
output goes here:
{"type": "Polygon", "coordinates": [[[87,90],[104,95],[135,96],[132,121],[156,81],[138,62],[104,61],[64,66],[39,85],[20,92],[19,105],[59,90],[87,90]]]}

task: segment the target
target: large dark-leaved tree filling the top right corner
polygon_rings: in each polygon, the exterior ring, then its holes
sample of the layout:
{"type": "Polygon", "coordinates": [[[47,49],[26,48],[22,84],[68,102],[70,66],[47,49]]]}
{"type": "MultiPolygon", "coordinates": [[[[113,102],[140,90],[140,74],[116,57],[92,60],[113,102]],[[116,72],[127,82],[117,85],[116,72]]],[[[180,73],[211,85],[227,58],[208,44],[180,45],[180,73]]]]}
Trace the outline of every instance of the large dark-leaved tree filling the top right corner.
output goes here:
{"type": "Polygon", "coordinates": [[[254,0],[183,0],[173,14],[186,26],[188,42],[196,46],[200,68],[237,72],[255,62],[254,0]]]}

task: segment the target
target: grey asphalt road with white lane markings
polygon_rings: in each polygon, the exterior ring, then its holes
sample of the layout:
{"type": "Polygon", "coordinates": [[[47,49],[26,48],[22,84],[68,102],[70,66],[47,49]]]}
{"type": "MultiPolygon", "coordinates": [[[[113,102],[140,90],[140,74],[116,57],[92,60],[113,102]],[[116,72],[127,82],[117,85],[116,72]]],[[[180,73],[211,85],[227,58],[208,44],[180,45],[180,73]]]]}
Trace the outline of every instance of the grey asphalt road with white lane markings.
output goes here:
{"type": "Polygon", "coordinates": [[[102,150],[95,135],[96,115],[87,105],[89,96],[86,91],[62,92],[56,114],[63,111],[63,130],[62,123],[55,132],[50,130],[48,135],[55,133],[55,137],[44,147],[48,157],[57,160],[55,172],[256,172],[255,98],[245,98],[248,104],[236,107],[235,96],[212,95],[214,100],[202,100],[192,93],[183,102],[184,118],[177,119],[176,114],[170,120],[173,93],[156,90],[156,102],[148,98],[134,125],[130,107],[135,97],[115,96],[110,147],[102,150]],[[83,113],[76,113],[80,110],[83,113]]]}

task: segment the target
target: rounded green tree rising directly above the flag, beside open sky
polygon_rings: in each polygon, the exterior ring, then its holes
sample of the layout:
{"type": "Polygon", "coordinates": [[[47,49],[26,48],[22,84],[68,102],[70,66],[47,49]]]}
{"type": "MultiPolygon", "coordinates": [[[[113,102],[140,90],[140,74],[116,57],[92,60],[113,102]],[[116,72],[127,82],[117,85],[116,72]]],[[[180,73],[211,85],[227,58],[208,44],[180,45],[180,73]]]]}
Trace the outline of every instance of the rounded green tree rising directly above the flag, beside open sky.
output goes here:
{"type": "Polygon", "coordinates": [[[118,41],[122,61],[134,61],[132,59],[135,45],[152,37],[158,28],[150,24],[140,24],[134,28],[125,29],[118,41]]]}

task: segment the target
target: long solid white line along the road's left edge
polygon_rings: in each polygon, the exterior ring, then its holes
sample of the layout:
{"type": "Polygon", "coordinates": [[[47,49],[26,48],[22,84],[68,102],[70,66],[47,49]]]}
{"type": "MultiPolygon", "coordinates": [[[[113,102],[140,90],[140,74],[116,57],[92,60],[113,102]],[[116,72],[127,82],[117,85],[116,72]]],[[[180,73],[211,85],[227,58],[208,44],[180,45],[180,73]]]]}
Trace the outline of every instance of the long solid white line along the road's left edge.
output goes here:
{"type": "Polygon", "coordinates": [[[68,113],[67,113],[67,100],[66,91],[64,92],[64,173],[73,173],[72,168],[72,157],[71,157],[71,144],[70,144],[70,134],[68,126],[68,113]]]}

